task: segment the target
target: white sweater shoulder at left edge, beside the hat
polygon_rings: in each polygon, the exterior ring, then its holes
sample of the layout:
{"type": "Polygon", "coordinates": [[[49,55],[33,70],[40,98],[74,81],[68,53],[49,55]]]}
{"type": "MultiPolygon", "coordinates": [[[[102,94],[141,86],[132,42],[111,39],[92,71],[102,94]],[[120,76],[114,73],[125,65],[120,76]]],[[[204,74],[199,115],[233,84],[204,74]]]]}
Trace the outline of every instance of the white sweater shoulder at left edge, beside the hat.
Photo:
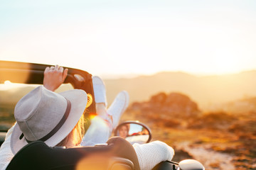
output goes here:
{"type": "Polygon", "coordinates": [[[8,130],[4,143],[0,148],[0,170],[5,170],[14,157],[13,152],[11,152],[11,133],[13,130],[14,126],[8,130]]]}

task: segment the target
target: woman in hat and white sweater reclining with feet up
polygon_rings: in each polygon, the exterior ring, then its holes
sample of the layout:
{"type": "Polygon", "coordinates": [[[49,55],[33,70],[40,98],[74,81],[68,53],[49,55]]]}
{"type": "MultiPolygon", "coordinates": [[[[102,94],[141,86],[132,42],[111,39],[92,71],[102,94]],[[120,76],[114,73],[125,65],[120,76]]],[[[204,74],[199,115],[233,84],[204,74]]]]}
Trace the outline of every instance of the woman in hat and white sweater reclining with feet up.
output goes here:
{"type": "MultiPolygon", "coordinates": [[[[112,129],[127,108],[126,93],[117,95],[114,105],[112,104],[107,110],[105,86],[95,81],[98,116],[92,120],[92,125],[82,137],[84,134],[82,113],[88,106],[87,94],[78,89],[60,94],[53,92],[63,83],[67,74],[68,70],[63,67],[46,68],[44,85],[38,86],[18,101],[14,110],[16,123],[7,132],[6,140],[0,148],[0,169],[6,169],[19,149],[36,140],[41,140],[50,147],[67,148],[86,145],[87,139],[90,138],[93,138],[91,144],[107,142],[112,129]],[[105,122],[102,125],[106,127],[103,131],[102,128],[97,128],[102,120],[105,122]]],[[[135,144],[134,149],[140,169],[152,169],[159,162],[171,160],[174,156],[174,149],[159,141],[144,145],[135,144]]]]}

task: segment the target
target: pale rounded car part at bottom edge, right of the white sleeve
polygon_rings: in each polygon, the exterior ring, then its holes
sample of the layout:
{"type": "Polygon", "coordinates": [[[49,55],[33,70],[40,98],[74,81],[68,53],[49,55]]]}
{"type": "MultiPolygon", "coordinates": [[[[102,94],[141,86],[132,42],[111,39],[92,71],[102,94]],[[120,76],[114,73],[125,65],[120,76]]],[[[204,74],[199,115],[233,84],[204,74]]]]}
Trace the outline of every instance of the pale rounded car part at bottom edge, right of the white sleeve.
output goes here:
{"type": "Polygon", "coordinates": [[[185,159],[178,163],[181,170],[204,170],[203,164],[194,159],[185,159]]]}

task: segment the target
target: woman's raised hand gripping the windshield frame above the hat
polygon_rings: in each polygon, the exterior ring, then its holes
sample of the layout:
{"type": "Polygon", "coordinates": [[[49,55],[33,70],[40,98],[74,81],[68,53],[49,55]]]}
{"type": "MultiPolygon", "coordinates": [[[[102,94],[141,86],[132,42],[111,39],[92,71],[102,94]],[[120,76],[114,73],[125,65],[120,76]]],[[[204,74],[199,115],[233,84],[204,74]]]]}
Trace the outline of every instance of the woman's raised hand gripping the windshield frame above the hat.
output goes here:
{"type": "Polygon", "coordinates": [[[65,78],[68,75],[68,69],[63,69],[58,65],[52,67],[46,67],[43,77],[43,86],[50,91],[55,91],[63,84],[65,78]]]}

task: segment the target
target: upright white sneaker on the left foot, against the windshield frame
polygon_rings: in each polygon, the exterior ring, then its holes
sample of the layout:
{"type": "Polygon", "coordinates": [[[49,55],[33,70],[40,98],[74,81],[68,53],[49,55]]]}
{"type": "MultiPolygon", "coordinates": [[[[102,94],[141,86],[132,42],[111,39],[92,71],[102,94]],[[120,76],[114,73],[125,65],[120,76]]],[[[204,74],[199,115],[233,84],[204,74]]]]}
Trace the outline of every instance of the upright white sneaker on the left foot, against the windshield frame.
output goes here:
{"type": "Polygon", "coordinates": [[[100,77],[92,77],[92,86],[95,95],[95,103],[105,103],[107,108],[107,97],[105,84],[100,77]]]}

